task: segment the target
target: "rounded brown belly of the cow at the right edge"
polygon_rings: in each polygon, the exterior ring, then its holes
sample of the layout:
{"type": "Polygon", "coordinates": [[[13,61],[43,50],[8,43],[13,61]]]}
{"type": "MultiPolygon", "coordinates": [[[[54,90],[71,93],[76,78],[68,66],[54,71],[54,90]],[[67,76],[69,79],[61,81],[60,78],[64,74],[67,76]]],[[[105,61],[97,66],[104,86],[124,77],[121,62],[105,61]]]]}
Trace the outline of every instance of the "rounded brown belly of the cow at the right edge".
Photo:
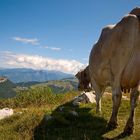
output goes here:
{"type": "Polygon", "coordinates": [[[136,52],[131,61],[125,67],[122,79],[121,86],[123,88],[129,89],[134,88],[138,85],[140,81],[140,52],[136,52]]]}

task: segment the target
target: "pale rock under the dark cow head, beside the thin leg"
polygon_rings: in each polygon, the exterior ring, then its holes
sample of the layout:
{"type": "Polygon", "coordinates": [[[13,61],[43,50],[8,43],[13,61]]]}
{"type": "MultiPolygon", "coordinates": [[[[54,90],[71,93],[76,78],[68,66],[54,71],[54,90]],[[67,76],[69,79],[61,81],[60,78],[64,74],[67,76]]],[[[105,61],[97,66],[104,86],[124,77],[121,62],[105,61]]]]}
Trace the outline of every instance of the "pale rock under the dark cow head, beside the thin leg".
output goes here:
{"type": "Polygon", "coordinates": [[[73,105],[79,105],[80,103],[96,103],[95,95],[93,92],[84,92],[81,95],[73,99],[73,105]]]}

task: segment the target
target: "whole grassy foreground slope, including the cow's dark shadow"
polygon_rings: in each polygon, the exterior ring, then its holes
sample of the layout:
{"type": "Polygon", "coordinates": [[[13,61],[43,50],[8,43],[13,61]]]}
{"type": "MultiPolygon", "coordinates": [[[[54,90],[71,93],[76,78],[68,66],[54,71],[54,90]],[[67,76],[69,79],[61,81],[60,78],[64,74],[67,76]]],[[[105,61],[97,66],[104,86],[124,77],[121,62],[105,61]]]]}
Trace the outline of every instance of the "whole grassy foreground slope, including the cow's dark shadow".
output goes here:
{"type": "MultiPolygon", "coordinates": [[[[107,121],[111,115],[111,96],[102,100],[102,114],[95,114],[95,104],[71,105],[77,93],[51,94],[48,89],[32,89],[21,93],[14,99],[0,101],[0,107],[11,106],[15,115],[0,121],[0,139],[19,140],[101,140],[119,135],[129,115],[129,101],[122,101],[118,114],[118,128],[106,131],[107,121]],[[64,106],[63,112],[59,110],[64,106]],[[78,117],[69,112],[75,110],[78,117]],[[20,113],[22,112],[22,114],[20,113]],[[52,114],[55,119],[47,121],[44,115],[52,114]]],[[[136,109],[135,132],[122,140],[140,139],[140,105],[136,109]]]]}

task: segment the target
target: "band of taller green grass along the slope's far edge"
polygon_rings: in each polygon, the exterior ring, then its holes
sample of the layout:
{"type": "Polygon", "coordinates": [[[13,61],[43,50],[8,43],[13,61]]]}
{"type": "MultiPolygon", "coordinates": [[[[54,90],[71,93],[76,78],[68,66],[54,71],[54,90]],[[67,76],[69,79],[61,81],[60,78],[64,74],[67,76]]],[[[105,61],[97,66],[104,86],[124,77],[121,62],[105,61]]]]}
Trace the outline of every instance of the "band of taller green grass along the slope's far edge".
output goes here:
{"type": "MultiPolygon", "coordinates": [[[[71,96],[71,94],[66,94],[71,96]]],[[[75,94],[76,95],[76,94],[75,94]]],[[[64,94],[53,94],[48,87],[34,87],[26,91],[19,91],[17,96],[7,100],[0,100],[0,108],[23,108],[28,106],[58,105],[66,102],[64,94]]]]}

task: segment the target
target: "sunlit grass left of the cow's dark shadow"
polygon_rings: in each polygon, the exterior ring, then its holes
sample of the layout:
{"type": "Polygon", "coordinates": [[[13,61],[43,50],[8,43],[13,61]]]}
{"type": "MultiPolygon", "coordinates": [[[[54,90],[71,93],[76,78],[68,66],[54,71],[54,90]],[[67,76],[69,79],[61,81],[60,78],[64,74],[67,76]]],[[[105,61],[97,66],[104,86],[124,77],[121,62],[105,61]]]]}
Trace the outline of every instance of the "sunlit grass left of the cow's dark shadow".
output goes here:
{"type": "Polygon", "coordinates": [[[53,94],[50,88],[34,87],[19,91],[17,96],[0,99],[0,108],[14,109],[14,115],[0,120],[0,140],[31,140],[34,129],[45,114],[50,114],[60,104],[70,101],[76,92],[53,94]]]}

